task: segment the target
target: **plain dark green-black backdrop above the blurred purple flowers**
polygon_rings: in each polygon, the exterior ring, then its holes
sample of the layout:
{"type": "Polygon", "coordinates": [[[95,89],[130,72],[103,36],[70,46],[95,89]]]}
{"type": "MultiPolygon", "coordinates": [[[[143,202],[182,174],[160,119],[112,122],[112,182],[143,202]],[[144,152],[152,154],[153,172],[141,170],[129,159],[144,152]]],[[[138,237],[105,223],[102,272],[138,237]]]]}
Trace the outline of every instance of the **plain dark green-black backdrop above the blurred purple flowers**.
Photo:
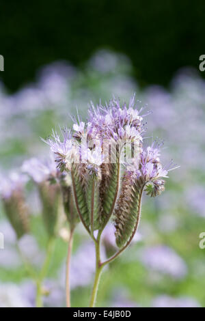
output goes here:
{"type": "MultiPolygon", "coordinates": [[[[36,70],[66,59],[81,65],[98,48],[128,55],[141,85],[167,85],[205,54],[204,1],[1,1],[0,77],[14,91],[36,70]]],[[[204,76],[204,74],[202,74],[204,76]]]]}

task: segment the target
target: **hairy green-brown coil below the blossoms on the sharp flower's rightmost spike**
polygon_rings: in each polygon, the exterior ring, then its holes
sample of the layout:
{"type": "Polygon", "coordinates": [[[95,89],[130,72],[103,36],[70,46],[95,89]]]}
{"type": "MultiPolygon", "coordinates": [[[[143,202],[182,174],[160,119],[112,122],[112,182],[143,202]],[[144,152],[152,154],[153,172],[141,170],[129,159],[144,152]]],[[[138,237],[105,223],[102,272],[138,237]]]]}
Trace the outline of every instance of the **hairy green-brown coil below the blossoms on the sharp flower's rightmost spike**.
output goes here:
{"type": "Polygon", "coordinates": [[[131,239],[139,223],[143,187],[143,182],[132,182],[131,177],[124,176],[114,213],[115,240],[119,248],[131,239]]]}

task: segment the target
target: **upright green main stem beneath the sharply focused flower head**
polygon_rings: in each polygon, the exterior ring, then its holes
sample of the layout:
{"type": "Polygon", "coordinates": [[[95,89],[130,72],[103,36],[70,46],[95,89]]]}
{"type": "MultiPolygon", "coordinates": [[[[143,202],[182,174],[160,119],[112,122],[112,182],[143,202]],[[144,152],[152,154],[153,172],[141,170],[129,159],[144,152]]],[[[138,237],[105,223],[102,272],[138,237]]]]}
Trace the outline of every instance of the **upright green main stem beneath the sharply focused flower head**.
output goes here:
{"type": "Polygon", "coordinates": [[[101,275],[102,267],[103,267],[100,264],[100,242],[96,242],[95,245],[96,245],[96,275],[95,275],[94,286],[92,289],[92,295],[91,295],[91,299],[90,299],[90,307],[94,307],[94,305],[96,303],[98,284],[100,281],[100,275],[101,275]]]}

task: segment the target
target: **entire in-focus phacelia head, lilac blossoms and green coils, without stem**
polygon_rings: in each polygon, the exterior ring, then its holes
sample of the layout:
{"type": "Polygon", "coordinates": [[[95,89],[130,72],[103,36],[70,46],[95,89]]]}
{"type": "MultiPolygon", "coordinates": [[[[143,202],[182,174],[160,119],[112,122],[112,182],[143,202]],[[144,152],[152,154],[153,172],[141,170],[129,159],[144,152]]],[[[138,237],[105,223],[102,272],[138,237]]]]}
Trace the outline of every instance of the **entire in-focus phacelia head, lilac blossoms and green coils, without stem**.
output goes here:
{"type": "Polygon", "coordinates": [[[113,217],[118,247],[133,239],[144,190],[152,197],[164,191],[168,167],[160,161],[160,145],[143,147],[142,109],[135,95],[128,104],[111,99],[105,106],[91,102],[87,122],[74,122],[62,139],[49,138],[57,167],[71,174],[72,192],[79,217],[93,235],[113,217]]]}

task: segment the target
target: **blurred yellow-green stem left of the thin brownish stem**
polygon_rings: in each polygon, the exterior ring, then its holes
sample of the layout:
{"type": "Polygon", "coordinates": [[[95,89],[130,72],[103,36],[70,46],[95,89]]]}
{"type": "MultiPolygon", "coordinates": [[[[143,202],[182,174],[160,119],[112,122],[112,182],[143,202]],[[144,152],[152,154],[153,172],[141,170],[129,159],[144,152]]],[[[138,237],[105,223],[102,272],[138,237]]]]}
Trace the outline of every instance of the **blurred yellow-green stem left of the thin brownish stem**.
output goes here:
{"type": "Polygon", "coordinates": [[[55,238],[51,237],[48,242],[48,246],[46,249],[46,257],[44,260],[44,263],[42,265],[42,269],[40,271],[40,276],[38,277],[38,280],[36,281],[36,307],[42,307],[42,282],[44,278],[46,277],[48,270],[49,270],[49,265],[51,263],[51,257],[53,255],[53,250],[54,250],[54,241],[55,238]]]}

